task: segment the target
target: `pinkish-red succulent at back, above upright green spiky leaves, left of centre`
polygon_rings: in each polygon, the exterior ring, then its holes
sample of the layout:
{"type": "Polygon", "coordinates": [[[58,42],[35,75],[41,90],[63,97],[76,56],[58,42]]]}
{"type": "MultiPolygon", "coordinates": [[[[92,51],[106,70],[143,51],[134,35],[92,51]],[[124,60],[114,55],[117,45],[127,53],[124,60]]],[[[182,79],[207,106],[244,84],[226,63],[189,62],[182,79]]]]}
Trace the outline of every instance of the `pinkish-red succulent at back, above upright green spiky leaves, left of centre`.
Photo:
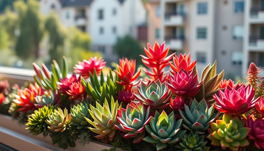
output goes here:
{"type": "Polygon", "coordinates": [[[89,72],[93,74],[94,70],[99,75],[106,62],[101,57],[97,60],[95,56],[94,58],[90,57],[89,60],[84,59],[82,62],[78,61],[78,64],[73,67],[75,69],[73,72],[80,74],[83,78],[89,78],[89,72]]]}

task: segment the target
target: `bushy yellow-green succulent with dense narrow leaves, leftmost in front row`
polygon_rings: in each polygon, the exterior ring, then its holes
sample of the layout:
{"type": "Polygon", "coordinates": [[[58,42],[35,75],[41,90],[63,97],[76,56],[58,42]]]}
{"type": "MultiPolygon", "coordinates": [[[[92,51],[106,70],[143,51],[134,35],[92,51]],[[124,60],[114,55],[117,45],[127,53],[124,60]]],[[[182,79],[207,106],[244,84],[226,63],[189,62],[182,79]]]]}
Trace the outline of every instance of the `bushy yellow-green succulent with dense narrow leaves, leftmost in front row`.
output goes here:
{"type": "Polygon", "coordinates": [[[34,113],[30,114],[27,119],[27,128],[32,135],[38,135],[43,133],[43,136],[47,136],[49,133],[48,124],[46,120],[48,116],[52,114],[54,107],[52,105],[43,106],[38,110],[34,110],[34,113]]]}

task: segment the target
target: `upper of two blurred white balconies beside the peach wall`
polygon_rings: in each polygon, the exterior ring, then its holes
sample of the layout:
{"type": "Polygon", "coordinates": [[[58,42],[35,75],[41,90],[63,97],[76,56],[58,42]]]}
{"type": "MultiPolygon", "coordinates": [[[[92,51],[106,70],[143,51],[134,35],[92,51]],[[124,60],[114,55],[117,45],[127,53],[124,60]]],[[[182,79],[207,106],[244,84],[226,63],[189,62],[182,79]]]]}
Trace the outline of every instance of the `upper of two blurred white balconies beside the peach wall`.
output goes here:
{"type": "Polygon", "coordinates": [[[184,18],[186,14],[184,13],[166,13],[164,18],[164,25],[182,25],[184,23],[184,18]]]}

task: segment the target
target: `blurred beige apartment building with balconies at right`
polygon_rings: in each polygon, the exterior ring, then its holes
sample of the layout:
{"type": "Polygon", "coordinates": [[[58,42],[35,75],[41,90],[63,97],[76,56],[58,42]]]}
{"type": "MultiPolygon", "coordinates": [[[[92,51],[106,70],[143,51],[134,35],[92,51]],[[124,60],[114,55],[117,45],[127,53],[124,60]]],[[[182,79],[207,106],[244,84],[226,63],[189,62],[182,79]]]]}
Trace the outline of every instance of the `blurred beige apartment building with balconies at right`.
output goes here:
{"type": "Polygon", "coordinates": [[[217,60],[218,73],[244,76],[250,62],[264,66],[263,1],[149,0],[148,40],[191,52],[199,73],[217,60]]]}

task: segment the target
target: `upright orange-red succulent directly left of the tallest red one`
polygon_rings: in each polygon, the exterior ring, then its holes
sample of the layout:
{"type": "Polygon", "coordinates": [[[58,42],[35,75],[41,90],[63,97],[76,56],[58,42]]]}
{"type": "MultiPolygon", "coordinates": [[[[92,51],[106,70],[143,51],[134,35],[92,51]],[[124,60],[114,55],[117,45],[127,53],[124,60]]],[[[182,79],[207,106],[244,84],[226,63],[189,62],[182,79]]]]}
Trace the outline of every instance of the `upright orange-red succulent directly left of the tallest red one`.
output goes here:
{"type": "Polygon", "coordinates": [[[118,84],[125,86],[126,90],[130,90],[132,86],[139,83],[136,82],[141,69],[135,73],[136,70],[136,60],[128,60],[127,58],[119,59],[119,65],[116,64],[116,74],[121,79],[118,84]]]}

